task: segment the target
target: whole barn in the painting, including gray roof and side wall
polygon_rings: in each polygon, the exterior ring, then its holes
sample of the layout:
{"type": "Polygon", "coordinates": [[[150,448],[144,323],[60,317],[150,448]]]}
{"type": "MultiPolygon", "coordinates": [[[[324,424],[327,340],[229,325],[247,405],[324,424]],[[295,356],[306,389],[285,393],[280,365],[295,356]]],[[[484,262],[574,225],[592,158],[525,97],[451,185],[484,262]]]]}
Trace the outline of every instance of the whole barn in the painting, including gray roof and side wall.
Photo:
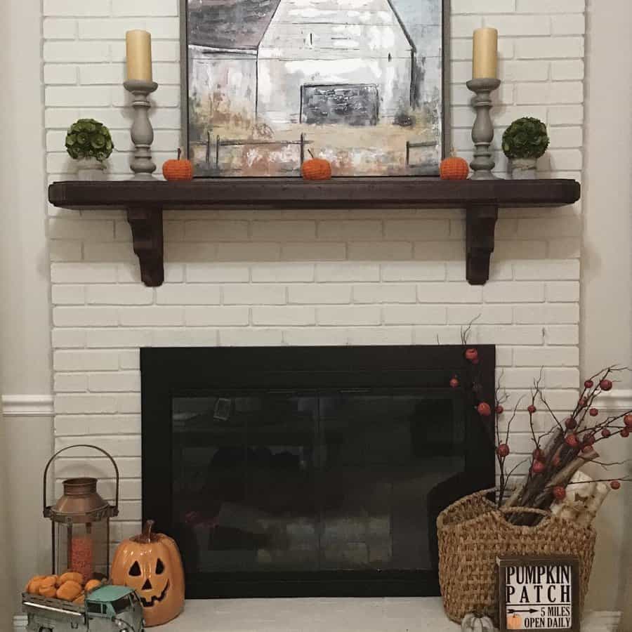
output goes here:
{"type": "Polygon", "coordinates": [[[189,11],[190,93],[210,98],[213,119],[371,125],[412,105],[416,50],[390,0],[189,0],[189,11]]]}

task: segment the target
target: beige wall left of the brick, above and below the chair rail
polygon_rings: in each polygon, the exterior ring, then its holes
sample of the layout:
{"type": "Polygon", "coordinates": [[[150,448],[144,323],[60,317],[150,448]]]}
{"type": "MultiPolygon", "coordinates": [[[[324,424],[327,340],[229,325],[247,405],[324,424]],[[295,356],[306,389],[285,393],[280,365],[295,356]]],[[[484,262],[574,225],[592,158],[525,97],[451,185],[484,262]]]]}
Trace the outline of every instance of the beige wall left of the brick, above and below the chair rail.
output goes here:
{"type": "MultiPolygon", "coordinates": [[[[5,0],[0,20],[1,395],[51,392],[40,4],[5,0]]],[[[0,415],[0,632],[50,564],[40,477],[51,449],[50,416],[0,415]]]]}

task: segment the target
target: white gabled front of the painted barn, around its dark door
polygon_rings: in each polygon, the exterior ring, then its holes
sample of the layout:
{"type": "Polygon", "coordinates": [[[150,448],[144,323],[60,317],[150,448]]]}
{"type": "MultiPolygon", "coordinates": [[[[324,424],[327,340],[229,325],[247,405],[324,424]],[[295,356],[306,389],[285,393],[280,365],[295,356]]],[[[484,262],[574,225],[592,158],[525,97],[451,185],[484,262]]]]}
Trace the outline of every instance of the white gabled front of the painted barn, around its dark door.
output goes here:
{"type": "Polygon", "coordinates": [[[347,85],[392,119],[410,106],[413,55],[388,0],[281,0],[258,51],[259,113],[296,122],[305,86],[347,85]]]}

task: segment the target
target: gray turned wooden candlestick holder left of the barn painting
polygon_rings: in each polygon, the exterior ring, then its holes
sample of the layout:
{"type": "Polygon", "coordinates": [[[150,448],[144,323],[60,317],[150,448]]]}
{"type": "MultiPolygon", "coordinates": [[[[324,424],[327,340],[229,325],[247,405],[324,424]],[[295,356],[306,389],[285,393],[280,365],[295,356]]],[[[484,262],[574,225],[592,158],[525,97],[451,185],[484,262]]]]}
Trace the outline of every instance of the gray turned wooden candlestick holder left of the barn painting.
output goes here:
{"type": "Polygon", "coordinates": [[[130,167],[134,172],[132,180],[155,180],[152,173],[156,171],[156,164],[152,160],[152,143],[154,129],[149,119],[149,96],[158,89],[155,81],[140,81],[130,79],[123,84],[126,91],[133,94],[132,107],[134,120],[131,126],[132,143],[136,146],[130,167]]]}

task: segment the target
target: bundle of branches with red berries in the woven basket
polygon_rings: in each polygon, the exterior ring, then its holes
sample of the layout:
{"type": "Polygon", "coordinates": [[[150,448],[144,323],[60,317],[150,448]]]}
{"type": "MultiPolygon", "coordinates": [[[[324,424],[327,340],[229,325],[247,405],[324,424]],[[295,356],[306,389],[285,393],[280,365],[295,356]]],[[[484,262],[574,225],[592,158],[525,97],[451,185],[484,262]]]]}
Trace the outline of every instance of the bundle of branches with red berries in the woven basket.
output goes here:
{"type": "MultiPolygon", "coordinates": [[[[467,343],[468,331],[469,328],[462,336],[464,345],[467,343]]],[[[473,384],[472,397],[475,409],[482,418],[489,417],[492,414],[492,405],[489,402],[478,400],[480,388],[477,387],[476,374],[478,374],[479,361],[475,347],[466,348],[465,359],[470,364],[470,374],[473,376],[471,383],[473,384]]],[[[497,494],[499,507],[551,508],[555,503],[565,501],[567,493],[572,491],[574,485],[585,485],[586,479],[581,478],[577,473],[579,468],[586,463],[598,463],[604,468],[624,465],[625,462],[605,463],[601,461],[598,444],[605,440],[613,440],[615,437],[628,437],[632,432],[632,410],[622,414],[603,416],[596,404],[600,395],[612,390],[614,376],[620,371],[627,370],[626,368],[607,367],[588,378],[584,382],[584,388],[581,390],[581,395],[574,409],[561,421],[546,401],[541,388],[541,377],[534,381],[530,403],[526,407],[533,442],[531,456],[507,471],[507,457],[511,454],[511,424],[520,411],[524,398],[515,404],[513,414],[506,424],[506,430],[501,433],[498,423],[493,430],[495,436],[492,437],[492,440],[494,440],[496,447],[497,471],[499,473],[499,493],[497,494]],[[550,414],[552,421],[552,428],[541,434],[536,433],[534,425],[534,414],[539,407],[550,414]],[[513,490],[509,489],[510,481],[513,480],[512,475],[525,462],[529,464],[528,473],[518,485],[515,485],[513,490]]],[[[451,381],[453,387],[459,384],[456,377],[454,376],[451,381]]],[[[503,404],[508,397],[500,386],[496,388],[495,399],[493,405],[496,416],[506,414],[503,404]]],[[[619,489],[621,481],[630,480],[632,479],[625,476],[591,479],[595,483],[607,483],[612,489],[619,489]]],[[[602,485],[601,487],[605,486],[602,485]]],[[[610,491],[610,489],[606,491],[610,491]]],[[[601,500],[603,497],[605,497],[604,493],[601,494],[601,500]]],[[[593,515],[594,511],[596,510],[591,508],[593,515]]],[[[507,519],[515,525],[535,525],[543,518],[541,515],[516,512],[508,514],[507,519]]]]}

